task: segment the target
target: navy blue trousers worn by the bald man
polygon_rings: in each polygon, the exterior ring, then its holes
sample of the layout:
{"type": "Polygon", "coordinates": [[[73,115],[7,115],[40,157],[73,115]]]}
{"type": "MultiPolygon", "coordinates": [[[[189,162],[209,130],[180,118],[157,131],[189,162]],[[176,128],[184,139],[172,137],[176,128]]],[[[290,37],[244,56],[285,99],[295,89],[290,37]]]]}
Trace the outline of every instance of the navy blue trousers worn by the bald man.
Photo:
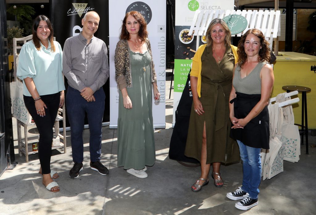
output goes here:
{"type": "Polygon", "coordinates": [[[66,107],[70,123],[72,160],[83,162],[83,139],[85,113],[87,113],[90,131],[90,161],[96,162],[101,156],[102,119],[105,106],[105,94],[102,88],[94,92],[95,101],[88,102],[80,92],[70,86],[67,89],[66,107]]]}

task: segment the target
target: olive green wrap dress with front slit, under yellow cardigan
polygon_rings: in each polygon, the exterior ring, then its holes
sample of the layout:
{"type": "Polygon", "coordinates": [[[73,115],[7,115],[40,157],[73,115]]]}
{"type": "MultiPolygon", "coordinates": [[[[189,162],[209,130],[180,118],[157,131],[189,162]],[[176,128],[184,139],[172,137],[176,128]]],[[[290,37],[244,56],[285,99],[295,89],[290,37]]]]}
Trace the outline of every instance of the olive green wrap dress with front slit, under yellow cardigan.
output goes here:
{"type": "Polygon", "coordinates": [[[206,126],[206,163],[220,162],[224,165],[240,161],[236,141],[229,137],[231,122],[228,100],[232,88],[234,54],[230,46],[220,64],[213,57],[212,47],[207,46],[201,56],[201,97],[204,112],[198,115],[191,107],[185,156],[201,161],[204,122],[206,126]]]}

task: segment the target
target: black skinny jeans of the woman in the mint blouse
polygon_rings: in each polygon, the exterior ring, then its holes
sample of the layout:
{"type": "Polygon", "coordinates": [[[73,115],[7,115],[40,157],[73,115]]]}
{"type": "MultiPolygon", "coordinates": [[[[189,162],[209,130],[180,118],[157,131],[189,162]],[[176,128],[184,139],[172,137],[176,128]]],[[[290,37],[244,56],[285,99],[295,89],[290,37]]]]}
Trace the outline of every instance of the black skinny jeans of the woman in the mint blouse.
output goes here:
{"type": "MultiPolygon", "coordinates": [[[[24,103],[28,112],[33,117],[33,120],[40,133],[40,142],[38,145],[40,165],[43,174],[51,173],[51,156],[52,156],[52,140],[53,127],[58,112],[60,93],[41,95],[42,101],[46,104],[45,116],[41,117],[36,113],[35,103],[32,96],[23,96],[24,103]]],[[[56,128],[59,129],[59,128],[56,128]]]]}

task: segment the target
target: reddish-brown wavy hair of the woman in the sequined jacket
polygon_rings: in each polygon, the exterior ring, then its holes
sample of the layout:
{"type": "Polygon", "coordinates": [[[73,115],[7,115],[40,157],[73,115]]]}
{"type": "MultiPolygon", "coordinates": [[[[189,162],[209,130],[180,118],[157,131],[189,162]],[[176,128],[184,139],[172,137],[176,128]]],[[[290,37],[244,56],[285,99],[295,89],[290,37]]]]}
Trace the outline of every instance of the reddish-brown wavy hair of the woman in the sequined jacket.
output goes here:
{"type": "Polygon", "coordinates": [[[129,15],[132,15],[137,20],[137,22],[140,24],[139,31],[138,31],[138,37],[141,39],[142,42],[145,42],[146,38],[148,37],[147,24],[146,24],[146,21],[145,21],[143,15],[141,15],[140,13],[138,13],[135,10],[132,10],[125,15],[125,17],[123,19],[123,23],[122,23],[121,35],[119,36],[119,38],[121,40],[131,39],[130,34],[128,33],[128,31],[126,29],[126,19],[129,15]]]}

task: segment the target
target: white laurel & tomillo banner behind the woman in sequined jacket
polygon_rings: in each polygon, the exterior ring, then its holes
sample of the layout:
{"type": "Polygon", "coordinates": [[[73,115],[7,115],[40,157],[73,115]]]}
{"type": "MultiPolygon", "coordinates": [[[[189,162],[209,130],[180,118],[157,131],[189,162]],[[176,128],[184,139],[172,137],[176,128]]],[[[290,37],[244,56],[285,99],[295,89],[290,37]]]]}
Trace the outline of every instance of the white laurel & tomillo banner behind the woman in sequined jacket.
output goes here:
{"type": "Polygon", "coordinates": [[[146,22],[148,38],[153,54],[160,100],[153,99],[153,123],[155,128],[166,127],[166,2],[109,0],[109,61],[110,61],[110,128],[117,128],[119,112],[119,88],[115,78],[114,53],[125,14],[136,10],[146,22]],[[118,6],[119,5],[119,6],[118,6]]]}

